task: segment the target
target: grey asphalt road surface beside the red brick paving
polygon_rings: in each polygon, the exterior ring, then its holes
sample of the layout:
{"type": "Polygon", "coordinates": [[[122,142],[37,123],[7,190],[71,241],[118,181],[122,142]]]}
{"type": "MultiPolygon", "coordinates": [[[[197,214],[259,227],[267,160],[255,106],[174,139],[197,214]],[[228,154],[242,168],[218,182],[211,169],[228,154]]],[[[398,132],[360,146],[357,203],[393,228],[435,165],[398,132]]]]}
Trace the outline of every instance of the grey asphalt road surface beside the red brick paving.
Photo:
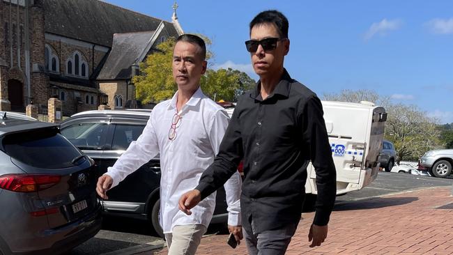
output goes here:
{"type": "MultiPolygon", "coordinates": [[[[348,203],[348,201],[439,186],[450,186],[453,188],[453,179],[381,171],[371,185],[362,190],[338,196],[336,203],[344,204],[348,203]]],[[[134,254],[140,249],[149,250],[151,245],[162,246],[164,240],[158,238],[151,229],[152,227],[144,221],[105,217],[102,230],[98,235],[95,235],[94,238],[84,242],[84,244],[76,247],[66,255],[127,255],[134,254]]],[[[208,234],[224,231],[227,231],[225,226],[210,226],[208,234]]]]}

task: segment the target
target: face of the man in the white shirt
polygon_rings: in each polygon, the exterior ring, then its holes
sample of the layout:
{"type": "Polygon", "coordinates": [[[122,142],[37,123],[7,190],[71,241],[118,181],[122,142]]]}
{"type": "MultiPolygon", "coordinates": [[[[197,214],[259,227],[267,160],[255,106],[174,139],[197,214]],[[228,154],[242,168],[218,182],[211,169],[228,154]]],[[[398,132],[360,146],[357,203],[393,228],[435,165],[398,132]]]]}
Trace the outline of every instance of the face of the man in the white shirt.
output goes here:
{"type": "Polygon", "coordinates": [[[201,48],[190,42],[177,42],[173,51],[173,79],[178,89],[193,91],[199,86],[201,75],[206,72],[206,61],[201,48]]]}

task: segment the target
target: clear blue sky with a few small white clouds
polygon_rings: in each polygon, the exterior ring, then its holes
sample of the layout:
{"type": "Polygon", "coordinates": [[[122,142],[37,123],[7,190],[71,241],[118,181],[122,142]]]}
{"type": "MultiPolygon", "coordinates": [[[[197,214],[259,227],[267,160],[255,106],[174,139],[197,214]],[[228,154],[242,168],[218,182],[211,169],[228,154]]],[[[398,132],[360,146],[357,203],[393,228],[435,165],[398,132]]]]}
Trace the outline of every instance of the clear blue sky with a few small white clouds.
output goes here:
{"type": "MultiPolygon", "coordinates": [[[[107,0],[171,21],[174,1],[107,0]]],[[[250,20],[277,9],[289,19],[290,75],[320,97],[371,89],[453,123],[453,1],[180,0],[186,33],[213,40],[212,68],[231,67],[256,79],[244,41],[250,20]]]]}

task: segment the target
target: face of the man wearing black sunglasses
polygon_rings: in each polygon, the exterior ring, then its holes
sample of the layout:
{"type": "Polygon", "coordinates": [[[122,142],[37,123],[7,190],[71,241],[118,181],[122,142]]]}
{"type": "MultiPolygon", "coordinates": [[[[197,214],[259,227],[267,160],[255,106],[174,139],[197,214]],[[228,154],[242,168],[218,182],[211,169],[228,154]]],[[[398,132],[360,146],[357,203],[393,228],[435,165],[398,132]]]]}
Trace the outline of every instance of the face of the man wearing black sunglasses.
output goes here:
{"type": "MultiPolygon", "coordinates": [[[[266,38],[280,38],[274,24],[256,24],[252,27],[252,31],[250,31],[250,40],[263,40],[266,38]]],[[[267,51],[263,49],[262,45],[259,45],[256,52],[250,53],[253,69],[259,77],[277,75],[279,70],[283,68],[284,56],[286,56],[288,52],[288,39],[278,40],[277,47],[267,51]]]]}

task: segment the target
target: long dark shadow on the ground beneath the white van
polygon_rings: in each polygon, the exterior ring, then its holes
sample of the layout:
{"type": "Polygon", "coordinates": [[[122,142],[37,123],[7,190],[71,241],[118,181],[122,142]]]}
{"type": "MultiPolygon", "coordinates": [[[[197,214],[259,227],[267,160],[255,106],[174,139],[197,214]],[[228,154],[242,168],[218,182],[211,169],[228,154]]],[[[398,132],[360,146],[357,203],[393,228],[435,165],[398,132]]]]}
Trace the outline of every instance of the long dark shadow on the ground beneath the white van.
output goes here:
{"type": "Polygon", "coordinates": [[[406,203],[412,203],[417,201],[418,198],[415,196],[410,197],[376,197],[374,199],[367,199],[362,201],[348,201],[335,205],[334,211],[344,210],[367,210],[374,208],[383,208],[389,206],[401,206],[406,203]]]}

